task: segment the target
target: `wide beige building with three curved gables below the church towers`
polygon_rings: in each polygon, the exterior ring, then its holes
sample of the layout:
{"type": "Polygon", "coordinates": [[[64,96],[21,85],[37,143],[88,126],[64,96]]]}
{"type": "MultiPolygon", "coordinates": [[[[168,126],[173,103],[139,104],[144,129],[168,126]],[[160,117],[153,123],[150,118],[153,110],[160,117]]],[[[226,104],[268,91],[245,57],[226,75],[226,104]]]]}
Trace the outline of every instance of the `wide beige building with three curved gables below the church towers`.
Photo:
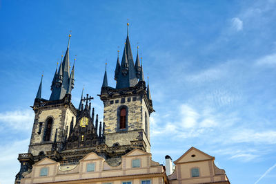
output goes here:
{"type": "Polygon", "coordinates": [[[151,159],[151,154],[134,149],[122,156],[122,163],[112,167],[95,153],[90,153],[77,165],[60,165],[43,158],[32,166],[32,172],[21,183],[95,183],[139,184],[168,183],[165,167],[151,159]]]}

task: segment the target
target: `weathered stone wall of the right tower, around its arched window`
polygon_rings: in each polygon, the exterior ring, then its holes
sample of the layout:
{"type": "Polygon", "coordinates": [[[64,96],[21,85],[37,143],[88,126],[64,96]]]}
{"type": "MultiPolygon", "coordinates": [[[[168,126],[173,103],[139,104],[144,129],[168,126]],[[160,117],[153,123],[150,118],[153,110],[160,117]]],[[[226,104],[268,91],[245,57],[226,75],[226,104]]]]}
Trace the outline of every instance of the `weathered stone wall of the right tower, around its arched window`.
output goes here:
{"type": "Polygon", "coordinates": [[[144,98],[135,95],[106,100],[104,102],[103,121],[106,124],[106,144],[109,147],[117,142],[119,145],[130,145],[130,141],[138,140],[138,136],[140,136],[146,142],[146,150],[150,151],[148,108],[144,98]],[[127,109],[126,129],[119,129],[119,109],[121,107],[126,107],[127,109]],[[148,138],[145,130],[145,113],[147,113],[148,138]]]}

